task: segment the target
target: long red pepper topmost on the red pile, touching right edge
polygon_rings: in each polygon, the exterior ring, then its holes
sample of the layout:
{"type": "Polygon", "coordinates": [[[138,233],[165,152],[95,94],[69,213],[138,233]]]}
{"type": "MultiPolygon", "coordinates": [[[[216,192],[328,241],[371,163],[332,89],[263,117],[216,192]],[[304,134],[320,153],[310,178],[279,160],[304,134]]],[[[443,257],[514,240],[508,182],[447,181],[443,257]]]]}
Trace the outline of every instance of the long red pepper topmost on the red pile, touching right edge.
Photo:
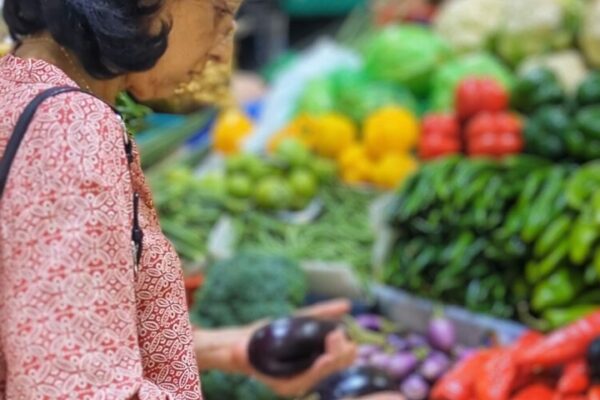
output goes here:
{"type": "Polygon", "coordinates": [[[562,328],[517,355],[520,365],[555,367],[585,355],[600,336],[600,312],[562,328]]]}

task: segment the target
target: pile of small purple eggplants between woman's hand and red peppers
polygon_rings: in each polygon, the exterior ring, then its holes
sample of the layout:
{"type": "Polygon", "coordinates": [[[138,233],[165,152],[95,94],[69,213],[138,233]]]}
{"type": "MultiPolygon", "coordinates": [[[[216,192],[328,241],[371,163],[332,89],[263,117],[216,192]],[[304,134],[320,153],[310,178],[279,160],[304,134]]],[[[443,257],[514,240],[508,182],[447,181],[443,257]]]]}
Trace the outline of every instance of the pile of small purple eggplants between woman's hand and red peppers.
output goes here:
{"type": "Polygon", "coordinates": [[[386,391],[400,392],[407,400],[426,400],[435,382],[473,351],[458,344],[454,325],[441,316],[430,321],[426,334],[394,331],[378,315],[362,315],[356,322],[371,332],[371,343],[359,347],[353,368],[315,389],[319,400],[386,391]]]}

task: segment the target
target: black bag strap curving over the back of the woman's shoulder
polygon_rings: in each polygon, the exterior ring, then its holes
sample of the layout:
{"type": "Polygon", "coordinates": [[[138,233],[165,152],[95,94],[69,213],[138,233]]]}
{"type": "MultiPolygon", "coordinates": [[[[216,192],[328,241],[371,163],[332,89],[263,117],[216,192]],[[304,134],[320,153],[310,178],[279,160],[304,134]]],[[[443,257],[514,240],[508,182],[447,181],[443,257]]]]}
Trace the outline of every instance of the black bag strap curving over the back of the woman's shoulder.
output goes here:
{"type": "Polygon", "coordinates": [[[81,89],[74,87],[55,87],[48,90],[43,91],[38,94],[28,105],[25,107],[25,110],[17,120],[17,124],[15,125],[15,129],[12,132],[10,139],[8,140],[8,144],[6,145],[6,150],[4,150],[4,155],[0,160],[0,199],[2,198],[2,194],[4,193],[4,188],[6,187],[6,182],[8,181],[8,174],[10,173],[10,167],[17,155],[17,151],[19,150],[19,146],[25,137],[25,133],[27,132],[27,128],[33,117],[35,112],[37,111],[40,104],[42,104],[46,99],[50,97],[57,96],[62,93],[81,91],[81,89]]]}

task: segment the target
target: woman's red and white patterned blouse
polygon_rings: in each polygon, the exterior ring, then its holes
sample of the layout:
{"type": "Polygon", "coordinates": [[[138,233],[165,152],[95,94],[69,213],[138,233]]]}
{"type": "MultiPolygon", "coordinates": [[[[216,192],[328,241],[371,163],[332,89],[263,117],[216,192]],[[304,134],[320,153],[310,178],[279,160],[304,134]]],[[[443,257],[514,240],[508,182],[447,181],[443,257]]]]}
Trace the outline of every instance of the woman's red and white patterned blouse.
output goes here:
{"type": "MultiPolygon", "coordinates": [[[[43,61],[0,59],[0,155],[37,93],[74,85],[43,61]]],[[[137,151],[129,172],[119,118],[82,93],[44,102],[0,202],[0,399],[201,399],[187,312],[179,259],[137,151]]]]}

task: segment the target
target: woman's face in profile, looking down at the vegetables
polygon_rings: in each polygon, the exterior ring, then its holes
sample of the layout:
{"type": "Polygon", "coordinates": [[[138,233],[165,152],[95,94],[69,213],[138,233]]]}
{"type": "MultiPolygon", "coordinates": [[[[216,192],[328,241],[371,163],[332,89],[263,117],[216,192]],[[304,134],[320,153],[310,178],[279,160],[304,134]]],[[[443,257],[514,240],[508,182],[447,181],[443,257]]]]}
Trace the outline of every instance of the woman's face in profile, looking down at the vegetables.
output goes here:
{"type": "Polygon", "coordinates": [[[168,98],[208,60],[229,63],[235,13],[241,0],[167,0],[158,21],[171,23],[169,46],[156,66],[126,77],[127,90],[142,101],[168,98]]]}

